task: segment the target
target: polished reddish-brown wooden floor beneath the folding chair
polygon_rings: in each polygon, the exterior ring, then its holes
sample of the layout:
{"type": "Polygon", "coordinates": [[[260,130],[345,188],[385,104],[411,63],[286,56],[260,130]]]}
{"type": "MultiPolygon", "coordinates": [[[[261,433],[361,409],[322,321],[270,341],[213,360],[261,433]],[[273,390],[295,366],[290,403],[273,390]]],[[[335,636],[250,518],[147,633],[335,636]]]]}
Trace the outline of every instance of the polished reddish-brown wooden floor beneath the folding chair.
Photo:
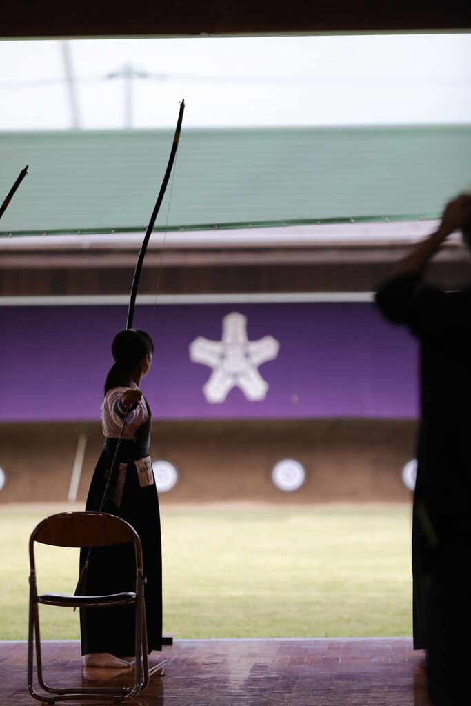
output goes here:
{"type": "MultiPolygon", "coordinates": [[[[166,676],[154,676],[133,704],[429,706],[424,656],[408,639],[177,640],[163,654],[166,676]]],[[[151,662],[158,657],[154,652],[151,662]]],[[[129,680],[129,672],[85,671],[71,641],[44,643],[44,671],[46,681],[61,686],[88,686],[97,672],[119,684],[129,680]]],[[[0,706],[33,703],[25,642],[0,642],[0,706]]]]}

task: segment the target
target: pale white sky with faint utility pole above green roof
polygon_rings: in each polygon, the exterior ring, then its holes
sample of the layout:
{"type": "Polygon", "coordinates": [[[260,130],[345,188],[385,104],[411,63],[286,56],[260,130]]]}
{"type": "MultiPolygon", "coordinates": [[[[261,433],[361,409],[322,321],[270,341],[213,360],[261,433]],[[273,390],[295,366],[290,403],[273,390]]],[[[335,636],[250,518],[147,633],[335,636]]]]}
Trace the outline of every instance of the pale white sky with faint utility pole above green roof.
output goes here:
{"type": "Polygon", "coordinates": [[[0,42],[1,131],[74,126],[65,52],[85,129],[471,123],[471,34],[196,37],[0,42]]]}

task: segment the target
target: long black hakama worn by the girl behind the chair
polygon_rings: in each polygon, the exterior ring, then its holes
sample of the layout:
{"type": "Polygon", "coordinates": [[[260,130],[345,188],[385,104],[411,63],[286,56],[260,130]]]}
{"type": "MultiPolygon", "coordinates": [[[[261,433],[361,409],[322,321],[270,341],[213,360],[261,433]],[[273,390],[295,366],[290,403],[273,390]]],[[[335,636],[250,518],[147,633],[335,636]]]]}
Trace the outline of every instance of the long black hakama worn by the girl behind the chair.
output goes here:
{"type": "MultiPolygon", "coordinates": [[[[133,461],[148,455],[149,419],[136,431],[134,440],[122,440],[119,458],[106,491],[102,512],[117,515],[134,527],[143,549],[145,618],[148,651],[162,649],[162,551],[160,515],[155,483],[141,488],[133,461]],[[119,464],[127,462],[126,480],[119,508],[112,496],[119,464]]],[[[86,510],[100,510],[117,439],[106,439],[88,492],[86,510]]],[[[88,550],[81,551],[81,568],[88,550]]],[[[119,544],[90,551],[89,566],[81,593],[86,595],[133,591],[136,588],[136,561],[133,544],[119,544]]],[[[109,652],[117,657],[131,657],[136,651],[134,606],[81,609],[82,654],[109,652]]]]}

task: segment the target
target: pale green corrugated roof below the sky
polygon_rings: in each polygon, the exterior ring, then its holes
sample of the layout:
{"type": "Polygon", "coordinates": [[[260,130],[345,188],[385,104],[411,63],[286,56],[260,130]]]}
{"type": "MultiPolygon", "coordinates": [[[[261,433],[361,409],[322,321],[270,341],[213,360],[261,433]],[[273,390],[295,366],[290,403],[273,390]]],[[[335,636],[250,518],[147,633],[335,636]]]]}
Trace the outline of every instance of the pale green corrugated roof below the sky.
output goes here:
{"type": "MultiPolygon", "coordinates": [[[[30,167],[1,232],[145,228],[171,143],[172,131],[0,133],[0,201],[30,167]]],[[[471,126],[184,128],[168,223],[431,216],[470,187],[471,126]]]]}

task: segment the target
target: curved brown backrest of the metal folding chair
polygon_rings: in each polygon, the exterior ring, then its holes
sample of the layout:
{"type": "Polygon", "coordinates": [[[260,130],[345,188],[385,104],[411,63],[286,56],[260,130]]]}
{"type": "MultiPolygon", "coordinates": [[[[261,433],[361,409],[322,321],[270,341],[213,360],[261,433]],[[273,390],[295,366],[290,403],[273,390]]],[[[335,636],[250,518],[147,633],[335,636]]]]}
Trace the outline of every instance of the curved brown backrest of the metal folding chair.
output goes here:
{"type": "Polygon", "coordinates": [[[34,566],[35,542],[70,547],[111,546],[134,542],[137,566],[142,567],[141,540],[138,533],[129,522],[108,513],[84,511],[46,517],[31,533],[31,566],[34,566]]]}

